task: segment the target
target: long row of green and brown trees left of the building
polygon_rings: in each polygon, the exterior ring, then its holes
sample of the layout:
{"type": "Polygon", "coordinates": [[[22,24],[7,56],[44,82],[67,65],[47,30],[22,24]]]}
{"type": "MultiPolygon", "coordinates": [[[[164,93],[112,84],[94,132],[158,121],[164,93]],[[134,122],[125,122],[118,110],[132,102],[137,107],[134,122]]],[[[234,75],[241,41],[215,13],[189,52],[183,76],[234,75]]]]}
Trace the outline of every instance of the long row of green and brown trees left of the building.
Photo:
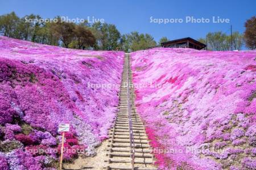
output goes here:
{"type": "Polygon", "coordinates": [[[131,32],[121,35],[114,24],[64,22],[60,16],[56,22],[42,22],[40,15],[19,18],[15,12],[0,16],[0,35],[14,39],[63,46],[74,49],[125,50],[126,52],[155,46],[149,34],[131,32]],[[33,21],[33,22],[28,22],[33,21]]]}

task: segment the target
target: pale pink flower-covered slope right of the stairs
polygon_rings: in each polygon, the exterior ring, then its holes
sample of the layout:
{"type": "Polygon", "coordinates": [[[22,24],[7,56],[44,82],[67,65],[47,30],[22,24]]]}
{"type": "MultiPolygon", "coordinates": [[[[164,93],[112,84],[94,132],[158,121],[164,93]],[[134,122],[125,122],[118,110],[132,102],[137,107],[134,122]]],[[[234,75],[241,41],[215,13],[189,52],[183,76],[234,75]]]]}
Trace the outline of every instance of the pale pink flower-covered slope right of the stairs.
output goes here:
{"type": "Polygon", "coordinates": [[[155,48],[131,57],[159,169],[256,169],[256,51],[155,48]]]}

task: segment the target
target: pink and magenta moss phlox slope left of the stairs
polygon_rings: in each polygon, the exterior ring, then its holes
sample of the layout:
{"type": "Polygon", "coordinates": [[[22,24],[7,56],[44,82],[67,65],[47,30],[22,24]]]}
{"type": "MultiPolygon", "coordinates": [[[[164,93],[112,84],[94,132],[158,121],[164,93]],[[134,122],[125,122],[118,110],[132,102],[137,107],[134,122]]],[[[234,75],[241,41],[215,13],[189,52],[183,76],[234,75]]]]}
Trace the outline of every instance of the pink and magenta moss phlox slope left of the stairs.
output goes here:
{"type": "Polygon", "coordinates": [[[1,166],[26,169],[34,163],[32,169],[42,169],[49,156],[57,159],[58,153],[34,158],[25,147],[57,150],[63,122],[71,124],[65,146],[94,154],[117,111],[123,56],[0,36],[0,143],[21,146],[0,150],[1,166]],[[31,127],[27,134],[24,125],[31,127]]]}

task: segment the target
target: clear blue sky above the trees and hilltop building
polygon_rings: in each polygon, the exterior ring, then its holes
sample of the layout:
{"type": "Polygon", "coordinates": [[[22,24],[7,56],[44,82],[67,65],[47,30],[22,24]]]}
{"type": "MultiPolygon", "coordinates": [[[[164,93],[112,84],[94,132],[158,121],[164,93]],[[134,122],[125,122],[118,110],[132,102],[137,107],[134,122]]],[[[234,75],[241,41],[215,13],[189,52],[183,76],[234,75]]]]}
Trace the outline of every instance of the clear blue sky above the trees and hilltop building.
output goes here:
{"type": "Polygon", "coordinates": [[[150,33],[156,41],[162,36],[168,39],[192,37],[198,39],[208,32],[233,31],[243,32],[246,19],[256,15],[256,1],[57,1],[57,0],[0,0],[0,15],[16,12],[18,16],[39,14],[43,18],[56,15],[68,18],[103,18],[106,23],[113,23],[121,33],[138,31],[150,33]],[[150,23],[153,19],[183,19],[183,23],[150,23]],[[185,17],[210,19],[210,23],[186,23],[185,17]],[[230,23],[212,23],[213,16],[229,19],[230,23]]]}

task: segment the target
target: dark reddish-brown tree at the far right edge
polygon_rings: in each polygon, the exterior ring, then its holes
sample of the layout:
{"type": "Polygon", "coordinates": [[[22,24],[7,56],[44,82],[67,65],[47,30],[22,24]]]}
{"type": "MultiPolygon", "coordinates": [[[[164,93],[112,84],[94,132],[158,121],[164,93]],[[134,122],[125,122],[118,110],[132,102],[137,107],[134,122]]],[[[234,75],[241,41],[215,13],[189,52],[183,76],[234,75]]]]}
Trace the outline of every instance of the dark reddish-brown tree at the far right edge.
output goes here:
{"type": "Polygon", "coordinates": [[[255,16],[245,22],[245,43],[247,48],[256,49],[256,18],[255,16]]]}

